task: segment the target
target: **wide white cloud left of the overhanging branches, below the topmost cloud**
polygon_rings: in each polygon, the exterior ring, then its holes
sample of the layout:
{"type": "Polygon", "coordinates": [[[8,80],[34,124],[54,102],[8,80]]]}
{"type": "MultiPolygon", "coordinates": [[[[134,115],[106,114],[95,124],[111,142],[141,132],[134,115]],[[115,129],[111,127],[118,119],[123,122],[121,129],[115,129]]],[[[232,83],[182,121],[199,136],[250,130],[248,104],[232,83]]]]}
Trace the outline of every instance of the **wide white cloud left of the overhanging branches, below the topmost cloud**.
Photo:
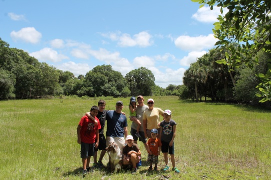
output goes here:
{"type": "Polygon", "coordinates": [[[188,51],[199,51],[202,49],[213,47],[217,39],[214,38],[213,34],[199,35],[191,37],[188,35],[181,35],[175,40],[175,45],[183,50],[188,51]]]}

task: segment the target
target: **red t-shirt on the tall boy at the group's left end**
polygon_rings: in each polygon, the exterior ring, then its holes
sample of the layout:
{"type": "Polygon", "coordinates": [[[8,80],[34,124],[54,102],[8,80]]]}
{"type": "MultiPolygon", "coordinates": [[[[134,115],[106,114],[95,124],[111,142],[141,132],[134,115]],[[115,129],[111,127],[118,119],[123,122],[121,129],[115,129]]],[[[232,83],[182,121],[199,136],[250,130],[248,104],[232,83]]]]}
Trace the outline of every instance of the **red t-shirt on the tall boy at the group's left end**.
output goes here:
{"type": "Polygon", "coordinates": [[[95,119],[98,121],[98,124],[95,125],[94,120],[84,115],[79,125],[81,125],[80,135],[81,141],[85,143],[94,143],[96,139],[96,130],[101,128],[100,121],[97,117],[95,119]]]}

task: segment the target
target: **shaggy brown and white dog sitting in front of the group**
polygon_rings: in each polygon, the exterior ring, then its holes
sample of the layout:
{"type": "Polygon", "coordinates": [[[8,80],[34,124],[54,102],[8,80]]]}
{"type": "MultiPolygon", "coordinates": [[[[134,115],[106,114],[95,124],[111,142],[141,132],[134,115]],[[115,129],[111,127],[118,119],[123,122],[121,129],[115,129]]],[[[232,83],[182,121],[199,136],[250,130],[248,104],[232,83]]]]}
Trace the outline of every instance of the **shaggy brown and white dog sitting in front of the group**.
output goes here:
{"type": "Polygon", "coordinates": [[[109,155],[110,171],[116,173],[122,166],[121,150],[116,142],[111,142],[105,149],[109,155]]]}

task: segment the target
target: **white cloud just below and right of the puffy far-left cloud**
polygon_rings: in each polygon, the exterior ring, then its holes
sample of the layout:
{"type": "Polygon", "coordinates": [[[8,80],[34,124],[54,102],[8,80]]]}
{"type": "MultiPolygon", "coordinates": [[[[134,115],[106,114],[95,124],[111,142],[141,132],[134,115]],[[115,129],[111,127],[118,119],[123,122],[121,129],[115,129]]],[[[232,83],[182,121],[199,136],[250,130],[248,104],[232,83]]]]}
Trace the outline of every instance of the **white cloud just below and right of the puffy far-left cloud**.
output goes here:
{"type": "Polygon", "coordinates": [[[39,61],[52,61],[52,62],[59,62],[62,59],[69,59],[69,57],[59,54],[56,50],[45,47],[39,51],[30,53],[31,56],[36,57],[39,61]]]}

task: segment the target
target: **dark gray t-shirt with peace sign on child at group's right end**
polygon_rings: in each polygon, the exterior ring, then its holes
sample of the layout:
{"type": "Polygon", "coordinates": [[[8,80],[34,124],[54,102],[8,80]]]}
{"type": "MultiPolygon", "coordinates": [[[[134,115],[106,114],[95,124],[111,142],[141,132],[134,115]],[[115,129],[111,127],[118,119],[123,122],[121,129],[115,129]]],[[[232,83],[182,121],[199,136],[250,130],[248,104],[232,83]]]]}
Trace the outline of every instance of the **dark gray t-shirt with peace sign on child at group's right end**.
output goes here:
{"type": "Polygon", "coordinates": [[[161,133],[161,141],[164,142],[170,142],[173,136],[173,125],[176,125],[177,123],[170,119],[169,122],[166,122],[165,120],[163,120],[160,123],[160,126],[163,127],[163,130],[161,133]]]}

